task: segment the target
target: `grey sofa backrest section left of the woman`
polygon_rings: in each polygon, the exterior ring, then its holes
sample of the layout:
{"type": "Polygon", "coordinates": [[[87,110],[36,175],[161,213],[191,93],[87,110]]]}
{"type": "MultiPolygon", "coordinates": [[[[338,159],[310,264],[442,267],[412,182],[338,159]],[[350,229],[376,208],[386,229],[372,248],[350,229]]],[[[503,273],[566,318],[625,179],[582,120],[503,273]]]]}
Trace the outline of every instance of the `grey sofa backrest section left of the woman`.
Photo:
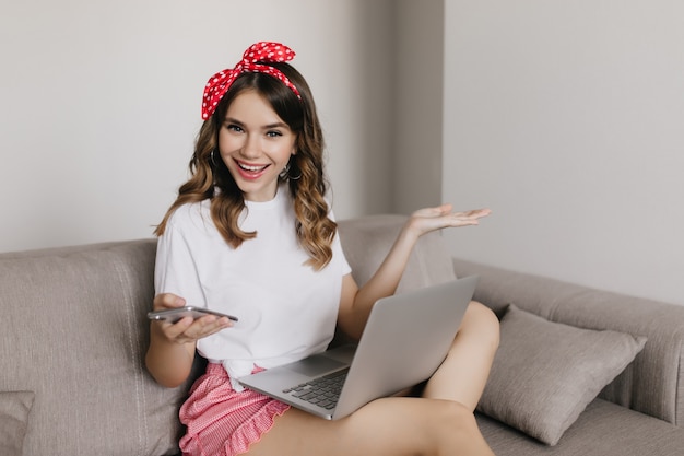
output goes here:
{"type": "Polygon", "coordinates": [[[25,455],[177,452],[187,385],[144,369],[155,245],[0,255],[0,391],[35,393],[25,455]]]}

